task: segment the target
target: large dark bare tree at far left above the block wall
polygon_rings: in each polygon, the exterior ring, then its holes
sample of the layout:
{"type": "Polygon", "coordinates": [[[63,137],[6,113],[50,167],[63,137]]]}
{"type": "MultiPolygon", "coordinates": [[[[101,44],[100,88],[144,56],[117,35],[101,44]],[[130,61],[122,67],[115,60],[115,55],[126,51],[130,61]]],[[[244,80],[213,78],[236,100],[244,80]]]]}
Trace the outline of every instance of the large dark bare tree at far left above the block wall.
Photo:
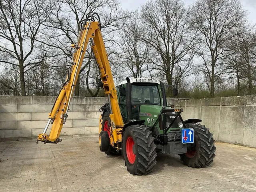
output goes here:
{"type": "Polygon", "coordinates": [[[32,53],[44,21],[44,2],[41,0],[0,1],[0,39],[3,42],[0,52],[5,56],[0,62],[19,68],[22,95],[26,95],[24,71],[38,64],[32,53]]]}

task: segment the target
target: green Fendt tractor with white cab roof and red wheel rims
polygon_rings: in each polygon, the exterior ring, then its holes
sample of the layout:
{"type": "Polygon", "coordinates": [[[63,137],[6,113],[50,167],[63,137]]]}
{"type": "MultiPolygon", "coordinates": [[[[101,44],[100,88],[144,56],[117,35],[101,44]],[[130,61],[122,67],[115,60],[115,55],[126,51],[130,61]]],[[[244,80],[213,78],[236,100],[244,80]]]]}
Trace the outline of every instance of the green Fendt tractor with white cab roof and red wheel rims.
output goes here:
{"type": "MultiPolygon", "coordinates": [[[[124,128],[122,150],[111,146],[106,154],[122,152],[131,174],[147,174],[156,164],[157,152],[178,154],[189,167],[210,165],[215,157],[213,134],[200,119],[183,120],[182,107],[167,105],[164,84],[156,79],[136,78],[121,82],[116,87],[124,128]]],[[[178,91],[174,87],[173,94],[178,91]]],[[[102,110],[102,132],[108,131],[109,104],[102,110]]],[[[108,133],[109,134],[109,133],[108,133]]],[[[106,134],[107,135],[107,134],[106,134]]],[[[110,135],[109,135],[110,136],[110,135]]]]}

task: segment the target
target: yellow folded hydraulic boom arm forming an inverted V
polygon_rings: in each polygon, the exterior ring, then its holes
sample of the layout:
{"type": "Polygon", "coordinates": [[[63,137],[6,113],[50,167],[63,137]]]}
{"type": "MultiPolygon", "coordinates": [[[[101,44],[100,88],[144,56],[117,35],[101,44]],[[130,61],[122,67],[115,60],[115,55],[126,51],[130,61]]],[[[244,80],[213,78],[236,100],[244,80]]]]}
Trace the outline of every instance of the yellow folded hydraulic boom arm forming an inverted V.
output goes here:
{"type": "Polygon", "coordinates": [[[38,135],[38,141],[42,141],[44,143],[58,143],[61,141],[59,139],[60,132],[63,124],[65,124],[65,121],[68,118],[68,106],[70,105],[70,100],[74,92],[75,84],[78,79],[89,40],[91,42],[96,62],[100,68],[100,77],[103,83],[103,88],[105,94],[108,96],[108,102],[110,104],[110,120],[112,124],[110,130],[112,134],[110,144],[114,146],[114,143],[117,144],[122,141],[122,128],[124,123],[118,105],[116,88],[114,86],[112,72],[100,31],[100,22],[92,21],[92,18],[93,17],[91,16],[90,20],[84,22],[81,30],[79,31],[76,44],[72,45],[75,51],[66,82],[62,86],[60,94],[52,107],[52,111],[49,113],[49,120],[44,128],[44,132],[38,135]],[[50,123],[52,123],[52,129],[48,136],[46,135],[46,130],[50,123]]]}

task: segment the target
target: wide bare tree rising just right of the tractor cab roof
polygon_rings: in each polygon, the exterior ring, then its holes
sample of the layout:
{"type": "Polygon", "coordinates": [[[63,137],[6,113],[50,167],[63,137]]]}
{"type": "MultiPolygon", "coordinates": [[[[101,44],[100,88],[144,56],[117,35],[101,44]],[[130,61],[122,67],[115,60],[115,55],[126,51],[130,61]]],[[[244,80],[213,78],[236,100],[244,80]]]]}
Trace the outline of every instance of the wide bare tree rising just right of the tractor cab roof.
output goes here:
{"type": "Polygon", "coordinates": [[[154,70],[159,70],[167,83],[172,84],[174,67],[177,64],[188,64],[185,58],[190,57],[194,44],[195,34],[190,33],[189,15],[184,2],[151,0],[142,6],[142,19],[147,27],[146,32],[152,37],[143,39],[154,48],[155,57],[160,58],[154,63],[154,70]]]}

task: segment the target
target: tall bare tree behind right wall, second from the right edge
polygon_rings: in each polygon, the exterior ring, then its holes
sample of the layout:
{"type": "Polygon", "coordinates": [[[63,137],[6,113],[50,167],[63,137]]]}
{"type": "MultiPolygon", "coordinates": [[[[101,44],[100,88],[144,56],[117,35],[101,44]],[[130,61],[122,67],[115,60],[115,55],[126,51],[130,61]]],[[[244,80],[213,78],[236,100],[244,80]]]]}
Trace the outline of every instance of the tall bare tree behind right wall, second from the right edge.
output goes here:
{"type": "Polygon", "coordinates": [[[197,0],[190,15],[191,26],[200,41],[197,53],[203,61],[198,69],[204,73],[210,96],[214,97],[214,84],[227,70],[220,62],[228,54],[226,43],[246,13],[238,0],[197,0]]]}

